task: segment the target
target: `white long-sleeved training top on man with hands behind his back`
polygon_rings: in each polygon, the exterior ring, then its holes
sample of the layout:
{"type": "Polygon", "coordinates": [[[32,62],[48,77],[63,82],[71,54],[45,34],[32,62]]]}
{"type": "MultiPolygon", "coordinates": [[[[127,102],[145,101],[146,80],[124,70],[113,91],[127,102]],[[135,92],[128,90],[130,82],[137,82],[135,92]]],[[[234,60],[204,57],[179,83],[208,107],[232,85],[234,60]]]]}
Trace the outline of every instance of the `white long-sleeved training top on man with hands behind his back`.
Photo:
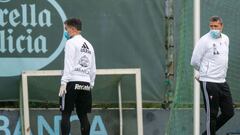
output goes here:
{"type": "Polygon", "coordinates": [[[199,80],[223,83],[228,68],[229,38],[221,33],[214,39],[210,33],[197,42],[191,59],[191,65],[199,71],[199,80]]]}

